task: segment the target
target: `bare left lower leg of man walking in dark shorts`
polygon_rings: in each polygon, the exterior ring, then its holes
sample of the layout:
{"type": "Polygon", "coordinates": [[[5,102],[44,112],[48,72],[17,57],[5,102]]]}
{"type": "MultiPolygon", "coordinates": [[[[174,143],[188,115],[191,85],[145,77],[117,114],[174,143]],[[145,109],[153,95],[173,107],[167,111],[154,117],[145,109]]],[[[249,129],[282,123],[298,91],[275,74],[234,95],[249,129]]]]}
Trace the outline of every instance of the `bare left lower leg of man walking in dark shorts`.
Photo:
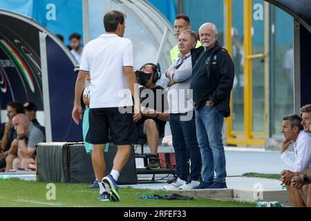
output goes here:
{"type": "Polygon", "coordinates": [[[106,144],[93,144],[91,154],[93,169],[96,179],[100,182],[106,174],[106,164],[104,159],[104,149],[106,144]]]}

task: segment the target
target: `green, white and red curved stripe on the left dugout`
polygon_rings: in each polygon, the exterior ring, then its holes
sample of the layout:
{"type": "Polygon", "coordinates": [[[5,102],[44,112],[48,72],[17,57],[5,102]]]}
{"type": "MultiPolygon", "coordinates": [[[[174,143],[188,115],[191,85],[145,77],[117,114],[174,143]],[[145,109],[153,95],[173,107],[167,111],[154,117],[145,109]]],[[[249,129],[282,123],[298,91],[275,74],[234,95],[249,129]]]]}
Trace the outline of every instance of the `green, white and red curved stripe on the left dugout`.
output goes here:
{"type": "Polygon", "coordinates": [[[32,91],[32,93],[35,93],[34,80],[32,78],[28,66],[26,65],[25,61],[23,61],[21,55],[19,55],[19,53],[15,50],[15,48],[13,48],[12,45],[10,45],[8,41],[0,39],[0,45],[6,50],[6,52],[8,52],[8,54],[15,61],[15,64],[19,68],[19,71],[21,72],[21,75],[23,75],[23,78],[26,80],[28,86],[30,87],[30,90],[32,91]]]}

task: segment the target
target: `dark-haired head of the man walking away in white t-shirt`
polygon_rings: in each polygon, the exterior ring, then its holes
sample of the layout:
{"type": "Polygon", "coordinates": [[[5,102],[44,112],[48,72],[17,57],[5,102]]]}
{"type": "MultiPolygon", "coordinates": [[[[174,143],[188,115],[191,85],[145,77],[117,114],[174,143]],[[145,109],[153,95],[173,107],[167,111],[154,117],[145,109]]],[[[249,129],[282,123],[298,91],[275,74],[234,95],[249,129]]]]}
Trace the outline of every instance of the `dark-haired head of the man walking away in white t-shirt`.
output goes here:
{"type": "Polygon", "coordinates": [[[104,16],[104,28],[106,32],[114,32],[117,30],[117,24],[124,24],[126,15],[120,11],[110,11],[104,16]]]}

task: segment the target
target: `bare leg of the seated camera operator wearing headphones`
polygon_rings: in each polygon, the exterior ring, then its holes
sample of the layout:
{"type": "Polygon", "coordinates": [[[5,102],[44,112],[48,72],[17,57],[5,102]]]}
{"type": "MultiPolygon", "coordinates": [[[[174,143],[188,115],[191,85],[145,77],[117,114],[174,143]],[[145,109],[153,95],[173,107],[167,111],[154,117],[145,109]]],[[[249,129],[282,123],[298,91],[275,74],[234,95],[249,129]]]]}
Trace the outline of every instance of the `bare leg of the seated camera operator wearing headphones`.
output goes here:
{"type": "Polygon", "coordinates": [[[150,146],[152,155],[158,154],[159,133],[156,127],[156,122],[153,119],[147,119],[144,122],[144,134],[147,136],[147,142],[150,146]]]}

